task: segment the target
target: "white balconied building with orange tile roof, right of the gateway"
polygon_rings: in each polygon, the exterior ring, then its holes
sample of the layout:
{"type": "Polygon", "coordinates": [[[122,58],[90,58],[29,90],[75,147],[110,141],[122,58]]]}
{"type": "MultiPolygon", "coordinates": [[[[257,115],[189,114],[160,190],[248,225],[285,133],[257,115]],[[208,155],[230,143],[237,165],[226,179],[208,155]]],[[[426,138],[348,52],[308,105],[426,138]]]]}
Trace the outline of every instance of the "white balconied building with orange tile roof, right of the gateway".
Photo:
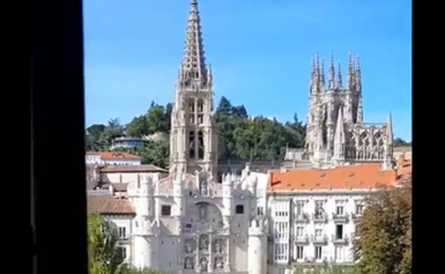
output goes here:
{"type": "Polygon", "coordinates": [[[290,274],[324,263],[354,265],[354,233],[364,199],[394,185],[396,178],[396,171],[377,164],[270,172],[267,273],[290,274]]]}

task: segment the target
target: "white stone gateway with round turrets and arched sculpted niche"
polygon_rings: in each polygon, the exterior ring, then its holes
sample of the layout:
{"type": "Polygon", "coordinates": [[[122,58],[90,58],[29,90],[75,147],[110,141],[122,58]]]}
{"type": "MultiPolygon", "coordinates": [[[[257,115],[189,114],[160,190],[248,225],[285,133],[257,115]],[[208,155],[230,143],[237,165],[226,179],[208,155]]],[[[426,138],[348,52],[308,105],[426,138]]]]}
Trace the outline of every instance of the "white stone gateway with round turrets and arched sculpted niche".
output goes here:
{"type": "Polygon", "coordinates": [[[135,209],[131,263],[170,273],[267,273],[267,176],[208,172],[165,179],[142,176],[128,185],[135,209]],[[260,183],[259,183],[260,181],[260,183]]]}

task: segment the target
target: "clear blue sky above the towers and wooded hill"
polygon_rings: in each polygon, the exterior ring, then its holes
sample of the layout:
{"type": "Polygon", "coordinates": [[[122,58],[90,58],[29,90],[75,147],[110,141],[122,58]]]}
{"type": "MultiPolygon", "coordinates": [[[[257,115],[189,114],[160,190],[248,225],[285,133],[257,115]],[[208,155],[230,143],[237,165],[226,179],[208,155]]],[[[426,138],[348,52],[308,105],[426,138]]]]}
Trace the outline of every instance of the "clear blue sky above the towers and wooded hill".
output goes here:
{"type": "MultiPolygon", "coordinates": [[[[190,0],[84,0],[86,125],[130,122],[151,100],[173,102],[190,0]]],[[[306,121],[317,51],[362,64],[365,122],[411,140],[411,1],[200,0],[215,104],[250,115],[306,121]]],[[[345,82],[345,79],[344,79],[345,82]]]]}

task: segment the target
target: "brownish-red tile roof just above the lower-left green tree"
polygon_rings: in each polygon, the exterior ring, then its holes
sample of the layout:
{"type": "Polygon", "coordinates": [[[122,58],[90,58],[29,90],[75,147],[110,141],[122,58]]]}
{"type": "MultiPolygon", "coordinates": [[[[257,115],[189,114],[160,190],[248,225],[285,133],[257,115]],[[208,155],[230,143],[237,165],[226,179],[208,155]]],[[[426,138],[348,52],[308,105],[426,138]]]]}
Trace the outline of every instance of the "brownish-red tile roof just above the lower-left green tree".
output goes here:
{"type": "Polygon", "coordinates": [[[88,214],[135,215],[133,205],[128,199],[114,196],[88,196],[88,214]]]}

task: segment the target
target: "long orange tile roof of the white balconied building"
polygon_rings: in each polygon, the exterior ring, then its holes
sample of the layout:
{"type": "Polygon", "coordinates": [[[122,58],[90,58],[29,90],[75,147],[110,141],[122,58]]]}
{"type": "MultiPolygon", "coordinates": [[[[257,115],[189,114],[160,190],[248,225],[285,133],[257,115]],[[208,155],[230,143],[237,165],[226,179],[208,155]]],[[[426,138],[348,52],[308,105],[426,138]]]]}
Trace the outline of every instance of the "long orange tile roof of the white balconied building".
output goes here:
{"type": "Polygon", "coordinates": [[[367,164],[335,169],[271,171],[267,189],[269,191],[369,189],[392,186],[395,181],[394,170],[381,170],[378,164],[367,164]]]}

